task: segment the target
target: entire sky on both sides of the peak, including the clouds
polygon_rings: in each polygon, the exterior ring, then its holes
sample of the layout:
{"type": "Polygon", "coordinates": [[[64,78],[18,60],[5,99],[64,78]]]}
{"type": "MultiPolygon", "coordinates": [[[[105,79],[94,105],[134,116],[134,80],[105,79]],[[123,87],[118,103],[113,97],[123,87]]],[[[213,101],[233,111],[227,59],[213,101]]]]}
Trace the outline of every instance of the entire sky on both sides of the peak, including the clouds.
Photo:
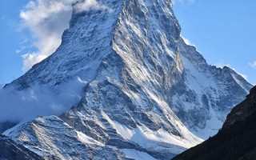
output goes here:
{"type": "MultiPolygon", "coordinates": [[[[27,5],[28,2],[0,1],[0,84],[18,78],[34,62],[52,53],[68,25],[73,0],[40,0],[40,4],[27,5]],[[63,3],[64,7],[56,12],[49,2],[63,3]]],[[[196,46],[211,65],[230,66],[253,84],[256,84],[255,9],[255,0],[174,2],[182,37],[196,46]]]]}

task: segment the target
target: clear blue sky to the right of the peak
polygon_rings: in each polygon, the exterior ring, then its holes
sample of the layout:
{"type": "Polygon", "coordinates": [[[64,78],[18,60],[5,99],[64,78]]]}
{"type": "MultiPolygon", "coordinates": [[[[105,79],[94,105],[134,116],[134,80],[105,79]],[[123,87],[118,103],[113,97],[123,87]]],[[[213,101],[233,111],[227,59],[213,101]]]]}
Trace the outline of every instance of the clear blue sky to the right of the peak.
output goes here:
{"type": "Polygon", "coordinates": [[[256,1],[176,0],[182,36],[206,61],[230,66],[256,85],[256,1]]]}

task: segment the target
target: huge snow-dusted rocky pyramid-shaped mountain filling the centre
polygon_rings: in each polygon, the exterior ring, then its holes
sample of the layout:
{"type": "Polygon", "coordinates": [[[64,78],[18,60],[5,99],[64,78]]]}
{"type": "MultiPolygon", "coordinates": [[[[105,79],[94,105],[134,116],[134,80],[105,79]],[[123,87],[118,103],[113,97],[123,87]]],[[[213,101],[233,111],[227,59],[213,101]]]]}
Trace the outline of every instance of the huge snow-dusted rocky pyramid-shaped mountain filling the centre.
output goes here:
{"type": "Polygon", "coordinates": [[[5,86],[56,94],[68,92],[66,83],[81,86],[81,100],[61,116],[5,132],[41,156],[170,159],[215,134],[251,88],[183,41],[170,0],[81,6],[58,50],[5,86]]]}

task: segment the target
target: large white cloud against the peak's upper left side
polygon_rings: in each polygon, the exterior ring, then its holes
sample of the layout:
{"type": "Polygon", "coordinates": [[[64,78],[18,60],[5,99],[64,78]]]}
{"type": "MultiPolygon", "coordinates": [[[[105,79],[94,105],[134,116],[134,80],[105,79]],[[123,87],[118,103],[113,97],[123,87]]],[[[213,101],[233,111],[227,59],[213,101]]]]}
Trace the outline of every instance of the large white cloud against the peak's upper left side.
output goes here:
{"type": "MultiPolygon", "coordinates": [[[[61,44],[62,33],[69,27],[72,4],[75,2],[77,0],[33,0],[26,4],[20,13],[22,28],[30,30],[33,39],[31,46],[37,51],[22,55],[24,71],[53,54],[61,44]]],[[[85,0],[74,7],[78,12],[110,10],[96,0],[85,0]]]]}

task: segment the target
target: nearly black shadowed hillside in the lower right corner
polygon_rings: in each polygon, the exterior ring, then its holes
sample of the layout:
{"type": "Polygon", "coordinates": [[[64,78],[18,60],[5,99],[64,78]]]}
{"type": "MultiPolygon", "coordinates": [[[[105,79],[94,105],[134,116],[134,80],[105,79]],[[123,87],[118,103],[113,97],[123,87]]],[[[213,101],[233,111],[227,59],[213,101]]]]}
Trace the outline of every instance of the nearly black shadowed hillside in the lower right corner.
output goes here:
{"type": "Polygon", "coordinates": [[[228,114],[222,130],[213,138],[179,154],[174,160],[256,158],[256,86],[246,100],[228,114]]]}

